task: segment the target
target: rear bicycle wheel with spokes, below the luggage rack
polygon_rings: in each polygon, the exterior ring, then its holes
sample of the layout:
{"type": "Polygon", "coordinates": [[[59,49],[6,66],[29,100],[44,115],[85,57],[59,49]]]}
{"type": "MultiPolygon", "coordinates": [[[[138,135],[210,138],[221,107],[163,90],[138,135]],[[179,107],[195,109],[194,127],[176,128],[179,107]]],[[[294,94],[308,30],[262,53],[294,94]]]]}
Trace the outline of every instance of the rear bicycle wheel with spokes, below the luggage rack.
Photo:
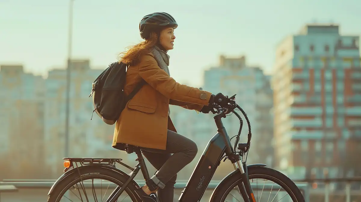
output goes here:
{"type": "MultiPolygon", "coordinates": [[[[79,172],[75,171],[60,181],[50,194],[48,202],[106,201],[117,186],[123,186],[128,177],[103,167],[79,169],[79,172]]],[[[135,190],[136,186],[129,183],[117,202],[142,201],[135,190]]]]}

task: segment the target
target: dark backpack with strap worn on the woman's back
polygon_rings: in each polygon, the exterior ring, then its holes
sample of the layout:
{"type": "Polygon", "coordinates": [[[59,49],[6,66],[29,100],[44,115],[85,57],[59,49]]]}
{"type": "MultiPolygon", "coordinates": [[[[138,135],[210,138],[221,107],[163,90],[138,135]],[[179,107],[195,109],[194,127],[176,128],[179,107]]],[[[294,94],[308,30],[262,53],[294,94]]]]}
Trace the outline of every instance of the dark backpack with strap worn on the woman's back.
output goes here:
{"type": "Polygon", "coordinates": [[[134,90],[126,96],[124,94],[126,70],[127,66],[122,62],[111,63],[92,84],[89,97],[93,96],[93,113],[96,112],[106,124],[115,124],[127,102],[132,99],[145,84],[145,81],[142,80],[134,90]]]}

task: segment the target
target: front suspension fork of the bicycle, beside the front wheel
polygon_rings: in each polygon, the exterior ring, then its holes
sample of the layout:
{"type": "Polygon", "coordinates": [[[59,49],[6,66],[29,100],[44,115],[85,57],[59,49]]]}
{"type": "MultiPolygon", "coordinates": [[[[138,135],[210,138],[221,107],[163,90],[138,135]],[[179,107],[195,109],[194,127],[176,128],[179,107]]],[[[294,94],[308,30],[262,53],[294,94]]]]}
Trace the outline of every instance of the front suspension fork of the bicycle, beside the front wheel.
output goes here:
{"type": "Polygon", "coordinates": [[[240,160],[233,163],[234,169],[239,170],[242,176],[242,182],[237,185],[238,192],[241,194],[244,202],[256,202],[251,183],[249,183],[248,169],[245,162],[240,160]]]}

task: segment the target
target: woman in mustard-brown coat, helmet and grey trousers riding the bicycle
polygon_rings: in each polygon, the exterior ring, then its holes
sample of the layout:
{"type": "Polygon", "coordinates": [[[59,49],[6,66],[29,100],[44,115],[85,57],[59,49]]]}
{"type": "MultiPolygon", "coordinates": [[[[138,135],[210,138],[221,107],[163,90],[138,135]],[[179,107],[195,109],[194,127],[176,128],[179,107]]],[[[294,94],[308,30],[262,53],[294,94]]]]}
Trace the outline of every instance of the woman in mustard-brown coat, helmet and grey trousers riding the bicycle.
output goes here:
{"type": "Polygon", "coordinates": [[[144,202],[172,202],[177,173],[197,154],[197,145],[175,130],[169,117],[169,104],[209,113],[213,95],[204,90],[181,85],[169,75],[168,50],[173,49],[174,29],[178,24],[168,13],[152,13],[139,24],[145,41],[123,52],[119,59],[129,65],[125,93],[142,80],[146,84],[127,103],[119,117],[113,147],[124,144],[142,148],[143,155],[158,170],[149,182],[139,188],[144,202]],[[171,155],[173,154],[173,155],[171,155]]]}

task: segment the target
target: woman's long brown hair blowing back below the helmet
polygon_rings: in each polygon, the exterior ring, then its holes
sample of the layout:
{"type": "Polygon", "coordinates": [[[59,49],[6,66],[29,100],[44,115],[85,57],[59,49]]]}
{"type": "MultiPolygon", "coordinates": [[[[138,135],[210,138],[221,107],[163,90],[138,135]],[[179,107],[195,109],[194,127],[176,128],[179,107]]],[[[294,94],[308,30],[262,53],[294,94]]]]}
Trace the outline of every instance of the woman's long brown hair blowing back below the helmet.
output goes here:
{"type": "Polygon", "coordinates": [[[157,42],[157,34],[155,32],[151,32],[149,39],[146,39],[134,46],[129,46],[127,47],[129,50],[120,53],[118,61],[131,66],[137,65],[140,62],[140,58],[143,55],[148,54],[157,42]]]}

